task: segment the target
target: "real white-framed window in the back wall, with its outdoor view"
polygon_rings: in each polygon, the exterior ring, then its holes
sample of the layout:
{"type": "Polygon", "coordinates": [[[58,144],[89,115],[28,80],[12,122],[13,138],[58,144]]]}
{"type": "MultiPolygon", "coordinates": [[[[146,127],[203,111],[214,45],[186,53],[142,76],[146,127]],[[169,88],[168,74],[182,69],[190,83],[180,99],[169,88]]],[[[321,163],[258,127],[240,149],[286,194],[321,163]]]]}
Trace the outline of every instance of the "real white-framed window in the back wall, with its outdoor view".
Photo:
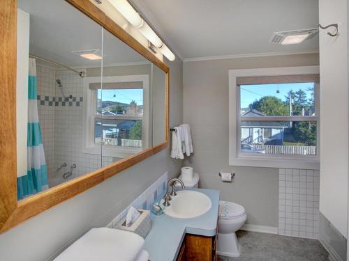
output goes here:
{"type": "MultiPolygon", "coordinates": [[[[231,148],[230,163],[245,160],[255,161],[251,166],[294,167],[291,161],[312,162],[309,166],[318,161],[318,70],[311,67],[309,74],[309,68],[290,74],[292,68],[283,69],[288,68],[235,72],[235,116],[230,100],[230,120],[236,127],[235,137],[230,132],[230,147],[235,145],[235,153],[231,148]]],[[[230,79],[230,88],[231,83],[230,79]]]]}

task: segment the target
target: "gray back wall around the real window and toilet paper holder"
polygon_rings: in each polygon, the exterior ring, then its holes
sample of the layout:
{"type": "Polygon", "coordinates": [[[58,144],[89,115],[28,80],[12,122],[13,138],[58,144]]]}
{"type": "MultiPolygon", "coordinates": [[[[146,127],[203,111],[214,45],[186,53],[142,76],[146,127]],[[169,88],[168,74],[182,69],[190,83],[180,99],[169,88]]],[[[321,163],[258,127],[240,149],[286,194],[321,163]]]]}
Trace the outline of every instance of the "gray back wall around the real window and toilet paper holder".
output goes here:
{"type": "Polygon", "coordinates": [[[228,164],[228,70],[318,65],[318,54],[229,58],[184,63],[184,122],[191,125],[194,155],[184,161],[200,173],[202,188],[244,205],[247,223],[278,226],[279,169],[228,164]],[[218,172],[234,172],[224,183],[218,172]]]}

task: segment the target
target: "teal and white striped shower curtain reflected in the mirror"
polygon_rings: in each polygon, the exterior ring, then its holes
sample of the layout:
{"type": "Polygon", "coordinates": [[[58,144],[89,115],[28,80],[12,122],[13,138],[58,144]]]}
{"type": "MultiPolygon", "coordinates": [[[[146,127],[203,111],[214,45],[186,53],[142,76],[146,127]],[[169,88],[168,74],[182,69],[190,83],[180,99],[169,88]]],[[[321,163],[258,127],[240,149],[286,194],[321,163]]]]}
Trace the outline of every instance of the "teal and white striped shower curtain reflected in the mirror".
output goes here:
{"type": "Polygon", "coordinates": [[[34,193],[48,189],[47,166],[43,149],[38,118],[36,87],[36,61],[29,58],[28,79],[28,137],[27,137],[27,175],[17,177],[17,198],[21,200],[34,193]]]}

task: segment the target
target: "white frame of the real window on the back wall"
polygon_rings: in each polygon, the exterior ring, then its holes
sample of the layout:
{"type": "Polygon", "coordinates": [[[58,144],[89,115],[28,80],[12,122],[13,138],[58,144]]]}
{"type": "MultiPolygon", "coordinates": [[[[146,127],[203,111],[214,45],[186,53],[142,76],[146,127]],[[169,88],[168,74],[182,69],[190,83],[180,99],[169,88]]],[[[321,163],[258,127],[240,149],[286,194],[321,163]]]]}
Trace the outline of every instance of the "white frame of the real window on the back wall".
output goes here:
{"type": "MultiPolygon", "coordinates": [[[[320,74],[319,66],[298,66],[287,68],[262,68],[246,70],[229,70],[229,165],[230,166],[255,166],[269,168],[320,168],[320,99],[318,88],[315,88],[315,112],[316,117],[309,117],[309,120],[316,118],[317,122],[317,147],[316,156],[304,155],[263,155],[255,153],[240,153],[241,148],[241,127],[240,127],[240,99],[237,86],[238,77],[263,77],[320,74]]],[[[268,117],[269,120],[282,120],[279,117],[268,117]]],[[[296,117],[294,117],[296,118],[296,117]]],[[[306,117],[302,117],[304,120],[306,117]]],[[[248,120],[247,118],[244,120],[248,120]]]]}

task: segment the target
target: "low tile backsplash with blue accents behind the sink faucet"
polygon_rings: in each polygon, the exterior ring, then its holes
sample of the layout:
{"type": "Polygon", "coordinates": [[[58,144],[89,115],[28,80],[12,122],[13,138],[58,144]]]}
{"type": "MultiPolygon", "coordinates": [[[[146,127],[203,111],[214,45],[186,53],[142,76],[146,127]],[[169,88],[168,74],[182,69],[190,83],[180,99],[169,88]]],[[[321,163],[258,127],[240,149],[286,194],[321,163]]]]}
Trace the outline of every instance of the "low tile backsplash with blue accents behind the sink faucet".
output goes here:
{"type": "Polygon", "coordinates": [[[153,184],[151,184],[138,198],[133,200],[126,209],[124,209],[119,215],[117,215],[112,222],[110,222],[107,227],[114,228],[117,226],[117,223],[123,219],[128,209],[133,206],[136,209],[150,209],[151,204],[154,203],[156,198],[162,198],[166,192],[166,184],[168,183],[168,173],[165,172],[161,177],[156,180],[153,184]]]}

